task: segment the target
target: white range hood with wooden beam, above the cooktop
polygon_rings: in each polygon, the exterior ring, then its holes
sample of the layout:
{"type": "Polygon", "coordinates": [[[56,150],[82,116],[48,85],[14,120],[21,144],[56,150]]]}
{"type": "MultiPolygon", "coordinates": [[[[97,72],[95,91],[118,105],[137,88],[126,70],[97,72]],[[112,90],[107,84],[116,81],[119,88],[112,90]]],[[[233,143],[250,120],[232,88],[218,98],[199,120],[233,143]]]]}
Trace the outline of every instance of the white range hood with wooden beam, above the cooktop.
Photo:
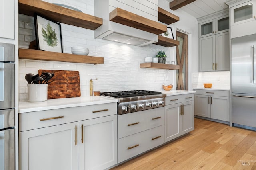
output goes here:
{"type": "MultiPolygon", "coordinates": [[[[103,18],[103,25],[94,31],[94,37],[137,46],[156,43],[158,35],[167,31],[167,26],[158,23],[158,4],[150,6],[150,8],[155,7],[156,21],[124,10],[123,8],[130,9],[126,4],[118,4],[110,0],[95,0],[94,16],[103,18]]],[[[142,8],[149,7],[142,6],[142,8]]]]}

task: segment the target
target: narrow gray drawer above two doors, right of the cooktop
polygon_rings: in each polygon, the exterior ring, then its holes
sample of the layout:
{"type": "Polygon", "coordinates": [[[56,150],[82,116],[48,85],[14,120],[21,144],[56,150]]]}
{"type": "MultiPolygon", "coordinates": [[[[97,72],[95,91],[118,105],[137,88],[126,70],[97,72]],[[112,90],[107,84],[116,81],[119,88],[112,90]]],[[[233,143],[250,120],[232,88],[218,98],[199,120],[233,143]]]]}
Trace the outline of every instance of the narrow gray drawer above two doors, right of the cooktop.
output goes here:
{"type": "Polygon", "coordinates": [[[165,105],[188,102],[191,100],[194,100],[194,93],[167,96],[165,98],[165,105]]]}

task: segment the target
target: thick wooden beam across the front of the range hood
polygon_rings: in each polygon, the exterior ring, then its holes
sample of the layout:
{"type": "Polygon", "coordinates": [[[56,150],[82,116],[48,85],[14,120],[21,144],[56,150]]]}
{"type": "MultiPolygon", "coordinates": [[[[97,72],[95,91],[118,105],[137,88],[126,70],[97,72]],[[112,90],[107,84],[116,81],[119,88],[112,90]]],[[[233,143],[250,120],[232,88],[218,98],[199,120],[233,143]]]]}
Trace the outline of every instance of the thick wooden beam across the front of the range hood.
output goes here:
{"type": "Polygon", "coordinates": [[[167,31],[167,26],[148,18],[136,15],[121,8],[116,8],[109,13],[109,20],[137,28],[154,34],[161,34],[167,31]]]}

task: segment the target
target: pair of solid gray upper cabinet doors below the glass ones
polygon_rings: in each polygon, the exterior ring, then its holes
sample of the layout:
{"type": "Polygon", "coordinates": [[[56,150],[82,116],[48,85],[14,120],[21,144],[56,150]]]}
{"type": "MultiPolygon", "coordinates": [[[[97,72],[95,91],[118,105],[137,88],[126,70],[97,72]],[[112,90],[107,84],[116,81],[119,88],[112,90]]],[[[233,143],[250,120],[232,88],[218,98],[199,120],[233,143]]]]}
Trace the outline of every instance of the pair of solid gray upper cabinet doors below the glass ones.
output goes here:
{"type": "Polygon", "coordinates": [[[229,70],[229,32],[199,39],[199,71],[229,70]]]}

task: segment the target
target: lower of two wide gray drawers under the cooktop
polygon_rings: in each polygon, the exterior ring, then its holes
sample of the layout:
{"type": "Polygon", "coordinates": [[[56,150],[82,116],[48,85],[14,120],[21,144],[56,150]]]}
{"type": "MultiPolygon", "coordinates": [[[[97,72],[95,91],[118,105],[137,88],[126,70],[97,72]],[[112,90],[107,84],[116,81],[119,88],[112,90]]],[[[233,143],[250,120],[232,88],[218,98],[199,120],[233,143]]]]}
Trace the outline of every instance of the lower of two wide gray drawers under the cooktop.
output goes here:
{"type": "Polygon", "coordinates": [[[164,125],[118,139],[118,163],[164,143],[164,125]]]}

